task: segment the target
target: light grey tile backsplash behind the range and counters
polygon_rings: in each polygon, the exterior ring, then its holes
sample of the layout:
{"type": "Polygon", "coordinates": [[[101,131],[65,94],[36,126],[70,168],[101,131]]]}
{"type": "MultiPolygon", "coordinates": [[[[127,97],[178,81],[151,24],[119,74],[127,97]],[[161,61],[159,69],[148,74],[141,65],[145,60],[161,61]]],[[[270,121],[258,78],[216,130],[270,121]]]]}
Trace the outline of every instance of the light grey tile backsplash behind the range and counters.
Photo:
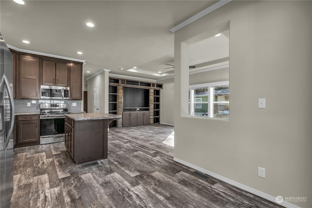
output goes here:
{"type": "Polygon", "coordinates": [[[68,111],[81,111],[81,100],[28,100],[28,99],[15,99],[15,113],[33,113],[39,112],[39,104],[40,103],[67,103],[68,111]],[[73,106],[73,103],[76,103],[76,106],[73,106]],[[30,106],[28,106],[30,105],[30,106]]]}

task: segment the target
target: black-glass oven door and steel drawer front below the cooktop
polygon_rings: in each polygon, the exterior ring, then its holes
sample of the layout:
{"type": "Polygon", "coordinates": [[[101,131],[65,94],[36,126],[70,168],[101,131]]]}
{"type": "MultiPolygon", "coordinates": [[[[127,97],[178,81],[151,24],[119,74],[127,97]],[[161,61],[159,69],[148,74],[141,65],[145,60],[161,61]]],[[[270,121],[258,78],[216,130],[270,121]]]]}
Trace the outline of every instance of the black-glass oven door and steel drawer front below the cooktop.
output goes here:
{"type": "Polygon", "coordinates": [[[65,140],[64,116],[40,116],[40,144],[50,144],[65,140]]]}

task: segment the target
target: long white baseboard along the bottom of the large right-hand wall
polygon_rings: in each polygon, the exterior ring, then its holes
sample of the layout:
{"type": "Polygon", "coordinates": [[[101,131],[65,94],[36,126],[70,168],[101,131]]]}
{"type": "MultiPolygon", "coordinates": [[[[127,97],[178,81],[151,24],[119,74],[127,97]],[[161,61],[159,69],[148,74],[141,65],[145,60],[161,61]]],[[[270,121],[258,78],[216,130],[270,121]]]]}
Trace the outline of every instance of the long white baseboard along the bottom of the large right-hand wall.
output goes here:
{"type": "MultiPolygon", "coordinates": [[[[195,166],[195,165],[193,165],[193,164],[191,164],[191,163],[188,163],[188,162],[185,162],[185,161],[183,161],[183,160],[180,160],[180,159],[178,159],[178,158],[176,158],[176,157],[174,157],[174,161],[176,161],[176,162],[178,162],[178,163],[181,163],[181,164],[183,164],[183,165],[185,165],[185,166],[188,166],[188,167],[190,167],[190,168],[193,168],[193,169],[195,169],[195,170],[198,170],[198,171],[201,171],[201,172],[203,172],[203,173],[206,173],[207,175],[213,176],[213,177],[215,177],[215,178],[217,178],[217,179],[219,179],[219,180],[221,180],[221,181],[224,181],[224,182],[226,182],[226,183],[228,183],[228,184],[231,184],[231,185],[233,185],[233,186],[235,186],[235,187],[237,187],[237,188],[246,190],[246,191],[251,192],[251,193],[253,193],[253,194],[257,195],[257,196],[260,196],[260,197],[265,198],[265,199],[267,199],[267,200],[269,200],[269,201],[271,201],[271,202],[276,203],[276,197],[274,197],[274,196],[271,196],[271,195],[266,194],[266,193],[263,193],[263,192],[261,192],[261,191],[259,191],[259,190],[250,188],[250,187],[245,186],[245,185],[243,185],[243,184],[237,183],[237,182],[235,182],[235,181],[233,181],[233,180],[231,180],[231,179],[228,179],[228,178],[223,177],[223,176],[221,176],[221,175],[215,174],[215,173],[213,173],[213,172],[211,172],[211,171],[209,171],[209,170],[202,169],[202,168],[200,168],[200,167],[198,167],[198,166],[195,166]]],[[[276,203],[276,204],[277,204],[277,203],[276,203]]],[[[284,207],[286,207],[286,208],[299,208],[299,207],[297,207],[297,206],[295,206],[295,205],[293,205],[293,204],[291,204],[291,203],[289,203],[289,202],[285,202],[285,201],[283,201],[282,203],[279,203],[279,205],[282,205],[282,206],[284,206],[284,207]]]]}

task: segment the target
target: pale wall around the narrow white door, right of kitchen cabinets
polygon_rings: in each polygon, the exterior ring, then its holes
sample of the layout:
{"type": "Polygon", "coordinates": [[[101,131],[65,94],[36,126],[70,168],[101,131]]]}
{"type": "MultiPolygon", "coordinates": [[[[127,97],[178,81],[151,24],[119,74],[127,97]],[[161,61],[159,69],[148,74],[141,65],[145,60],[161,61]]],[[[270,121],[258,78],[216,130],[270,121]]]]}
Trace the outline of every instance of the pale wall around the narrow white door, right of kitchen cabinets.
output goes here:
{"type": "Polygon", "coordinates": [[[94,88],[98,86],[99,113],[108,113],[108,71],[94,76],[88,81],[88,113],[94,113],[94,88]]]}

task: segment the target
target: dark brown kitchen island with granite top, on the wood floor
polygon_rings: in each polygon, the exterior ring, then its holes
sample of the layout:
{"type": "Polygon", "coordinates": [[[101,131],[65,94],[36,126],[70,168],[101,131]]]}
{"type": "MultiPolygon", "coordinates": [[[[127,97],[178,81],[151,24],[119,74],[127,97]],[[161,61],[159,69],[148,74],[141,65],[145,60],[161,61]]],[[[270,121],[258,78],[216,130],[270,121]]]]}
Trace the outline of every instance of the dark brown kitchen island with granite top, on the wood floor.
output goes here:
{"type": "Polygon", "coordinates": [[[76,164],[107,158],[108,126],[116,118],[121,118],[121,115],[65,114],[65,147],[76,164]]]}

